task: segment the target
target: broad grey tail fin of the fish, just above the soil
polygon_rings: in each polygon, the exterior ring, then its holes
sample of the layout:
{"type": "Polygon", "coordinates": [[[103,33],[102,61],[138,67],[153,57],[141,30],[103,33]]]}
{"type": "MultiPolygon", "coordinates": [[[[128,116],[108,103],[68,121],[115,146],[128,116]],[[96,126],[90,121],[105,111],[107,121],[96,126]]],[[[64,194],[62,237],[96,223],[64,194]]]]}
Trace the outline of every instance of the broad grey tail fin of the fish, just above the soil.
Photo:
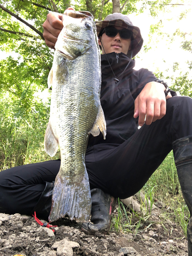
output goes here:
{"type": "Polygon", "coordinates": [[[89,221],[91,214],[91,193],[86,171],[83,179],[74,181],[73,177],[61,177],[58,173],[52,195],[49,221],[53,222],[68,215],[71,220],[89,221]]]}

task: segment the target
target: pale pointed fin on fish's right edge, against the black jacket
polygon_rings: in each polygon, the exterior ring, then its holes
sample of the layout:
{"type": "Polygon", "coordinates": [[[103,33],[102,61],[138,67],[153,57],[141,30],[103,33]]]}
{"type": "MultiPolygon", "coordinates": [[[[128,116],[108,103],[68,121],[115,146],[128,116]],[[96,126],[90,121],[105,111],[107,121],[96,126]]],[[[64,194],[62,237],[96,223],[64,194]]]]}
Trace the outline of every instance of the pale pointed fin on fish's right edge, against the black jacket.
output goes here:
{"type": "Polygon", "coordinates": [[[105,139],[105,136],[106,136],[106,122],[105,122],[105,119],[104,119],[104,113],[103,113],[101,105],[99,106],[99,113],[97,115],[96,121],[95,121],[95,123],[93,125],[93,128],[91,129],[90,133],[94,137],[96,137],[100,134],[99,130],[101,131],[101,133],[103,135],[103,138],[105,139]]]}

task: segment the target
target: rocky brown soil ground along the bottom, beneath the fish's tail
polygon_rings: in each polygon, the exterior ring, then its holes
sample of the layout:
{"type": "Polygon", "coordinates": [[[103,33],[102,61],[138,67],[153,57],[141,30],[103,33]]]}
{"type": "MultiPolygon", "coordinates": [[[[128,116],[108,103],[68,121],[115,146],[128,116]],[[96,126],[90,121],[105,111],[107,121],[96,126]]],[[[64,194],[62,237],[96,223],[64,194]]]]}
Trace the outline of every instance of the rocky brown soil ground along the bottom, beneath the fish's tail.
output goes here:
{"type": "Polygon", "coordinates": [[[187,240],[181,227],[169,219],[160,221],[160,211],[156,207],[151,224],[146,223],[136,234],[111,230],[91,235],[67,218],[55,223],[58,226],[53,232],[29,216],[0,214],[0,255],[187,256],[187,240]]]}

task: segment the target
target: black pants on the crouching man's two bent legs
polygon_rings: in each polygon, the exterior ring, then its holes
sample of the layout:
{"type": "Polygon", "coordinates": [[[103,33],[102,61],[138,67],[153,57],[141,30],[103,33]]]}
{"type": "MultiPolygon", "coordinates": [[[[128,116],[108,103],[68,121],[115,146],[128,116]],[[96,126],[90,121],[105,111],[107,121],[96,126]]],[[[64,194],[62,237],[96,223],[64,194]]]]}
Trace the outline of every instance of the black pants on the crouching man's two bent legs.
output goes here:
{"type": "MultiPolygon", "coordinates": [[[[124,143],[89,148],[86,166],[91,189],[100,188],[121,199],[134,195],[172,150],[172,143],[188,135],[192,135],[192,99],[168,99],[166,115],[144,124],[124,143]]],[[[60,160],[52,160],[0,172],[0,212],[30,214],[45,181],[55,179],[59,166],[60,160]]]]}

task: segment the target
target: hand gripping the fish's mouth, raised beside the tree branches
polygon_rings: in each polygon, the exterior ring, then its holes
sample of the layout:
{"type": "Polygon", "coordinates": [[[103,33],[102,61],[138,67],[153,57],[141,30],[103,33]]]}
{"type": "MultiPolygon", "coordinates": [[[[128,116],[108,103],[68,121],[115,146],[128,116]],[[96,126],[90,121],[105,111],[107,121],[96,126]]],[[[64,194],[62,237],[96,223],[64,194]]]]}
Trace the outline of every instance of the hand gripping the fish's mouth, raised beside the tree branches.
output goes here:
{"type": "Polygon", "coordinates": [[[44,38],[46,41],[46,45],[52,49],[55,49],[55,43],[57,41],[57,37],[63,28],[62,25],[62,14],[57,12],[50,12],[47,15],[47,19],[42,25],[44,28],[44,38]]]}

